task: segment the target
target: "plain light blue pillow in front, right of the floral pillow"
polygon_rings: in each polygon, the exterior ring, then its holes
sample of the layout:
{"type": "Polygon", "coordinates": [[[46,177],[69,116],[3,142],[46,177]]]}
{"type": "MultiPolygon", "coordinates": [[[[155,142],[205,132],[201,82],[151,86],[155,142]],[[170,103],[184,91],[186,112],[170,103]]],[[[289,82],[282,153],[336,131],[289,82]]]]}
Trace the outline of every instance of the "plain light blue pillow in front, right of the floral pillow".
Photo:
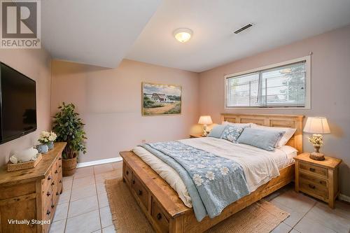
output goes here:
{"type": "Polygon", "coordinates": [[[284,131],[272,131],[267,129],[245,128],[237,139],[238,143],[244,143],[264,150],[274,151],[274,146],[283,136],[284,131]]]}

